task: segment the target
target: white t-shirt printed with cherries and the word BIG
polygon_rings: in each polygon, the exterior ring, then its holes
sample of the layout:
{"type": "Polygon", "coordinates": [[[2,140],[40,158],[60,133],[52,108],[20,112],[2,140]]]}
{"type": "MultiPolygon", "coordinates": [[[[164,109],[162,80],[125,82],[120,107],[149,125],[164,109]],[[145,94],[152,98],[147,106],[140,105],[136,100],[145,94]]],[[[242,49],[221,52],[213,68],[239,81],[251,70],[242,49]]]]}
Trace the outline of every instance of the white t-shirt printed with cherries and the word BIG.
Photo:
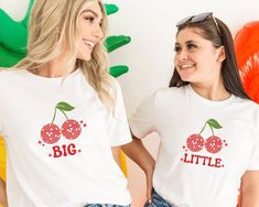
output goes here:
{"type": "Polygon", "coordinates": [[[80,69],[62,78],[0,72],[9,207],[128,205],[127,179],[111,146],[131,141],[120,87],[108,115],[80,69]]]}

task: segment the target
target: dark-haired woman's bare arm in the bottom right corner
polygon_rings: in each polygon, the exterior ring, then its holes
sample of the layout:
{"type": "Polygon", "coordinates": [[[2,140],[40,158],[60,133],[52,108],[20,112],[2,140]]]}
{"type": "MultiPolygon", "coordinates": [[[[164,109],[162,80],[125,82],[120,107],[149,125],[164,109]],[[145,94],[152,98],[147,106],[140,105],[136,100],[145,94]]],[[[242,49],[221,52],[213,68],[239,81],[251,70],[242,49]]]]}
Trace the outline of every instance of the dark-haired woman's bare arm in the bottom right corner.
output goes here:
{"type": "Polygon", "coordinates": [[[259,171],[247,171],[241,178],[241,207],[259,206],[259,171]]]}

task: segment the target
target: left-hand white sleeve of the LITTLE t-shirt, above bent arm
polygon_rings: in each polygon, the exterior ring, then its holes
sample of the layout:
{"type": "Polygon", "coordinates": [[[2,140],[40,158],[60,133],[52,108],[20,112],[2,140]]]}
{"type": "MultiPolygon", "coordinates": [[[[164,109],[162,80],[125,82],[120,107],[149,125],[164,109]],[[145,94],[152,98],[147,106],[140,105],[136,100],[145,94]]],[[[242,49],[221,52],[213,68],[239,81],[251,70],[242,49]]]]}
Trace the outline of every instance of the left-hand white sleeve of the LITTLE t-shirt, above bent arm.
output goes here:
{"type": "Polygon", "coordinates": [[[157,92],[145,98],[129,119],[131,132],[139,139],[157,131],[155,97],[157,92]]]}

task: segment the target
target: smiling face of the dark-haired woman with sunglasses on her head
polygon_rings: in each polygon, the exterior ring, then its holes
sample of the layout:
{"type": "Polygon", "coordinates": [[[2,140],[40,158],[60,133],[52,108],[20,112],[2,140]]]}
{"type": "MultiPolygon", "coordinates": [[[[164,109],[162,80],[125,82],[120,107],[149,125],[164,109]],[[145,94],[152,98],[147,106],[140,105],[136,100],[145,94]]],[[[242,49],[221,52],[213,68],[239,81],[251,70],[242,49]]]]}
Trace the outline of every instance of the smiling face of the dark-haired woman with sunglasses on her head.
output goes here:
{"type": "Polygon", "coordinates": [[[174,65],[183,81],[212,83],[220,77],[220,51],[201,35],[201,30],[185,28],[176,36],[174,65]]]}

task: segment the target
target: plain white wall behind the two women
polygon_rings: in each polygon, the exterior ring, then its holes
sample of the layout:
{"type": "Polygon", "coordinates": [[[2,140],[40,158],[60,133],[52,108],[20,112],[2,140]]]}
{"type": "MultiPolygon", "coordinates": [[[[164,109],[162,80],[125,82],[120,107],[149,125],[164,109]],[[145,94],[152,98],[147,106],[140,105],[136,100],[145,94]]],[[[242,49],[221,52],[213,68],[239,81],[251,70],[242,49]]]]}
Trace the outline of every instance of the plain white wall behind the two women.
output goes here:
{"type": "MultiPolygon", "coordinates": [[[[233,35],[247,22],[259,20],[257,0],[106,0],[120,10],[109,17],[110,35],[129,35],[130,44],[112,52],[112,65],[126,64],[130,72],[119,81],[130,116],[140,101],[160,87],[168,85],[172,75],[175,23],[192,14],[213,11],[229,25],[233,35]]],[[[0,8],[13,19],[24,17],[29,0],[0,0],[0,8]]],[[[159,139],[150,135],[144,141],[155,156],[159,139]]],[[[128,161],[132,207],[141,207],[145,195],[143,173],[128,161]]]]}

